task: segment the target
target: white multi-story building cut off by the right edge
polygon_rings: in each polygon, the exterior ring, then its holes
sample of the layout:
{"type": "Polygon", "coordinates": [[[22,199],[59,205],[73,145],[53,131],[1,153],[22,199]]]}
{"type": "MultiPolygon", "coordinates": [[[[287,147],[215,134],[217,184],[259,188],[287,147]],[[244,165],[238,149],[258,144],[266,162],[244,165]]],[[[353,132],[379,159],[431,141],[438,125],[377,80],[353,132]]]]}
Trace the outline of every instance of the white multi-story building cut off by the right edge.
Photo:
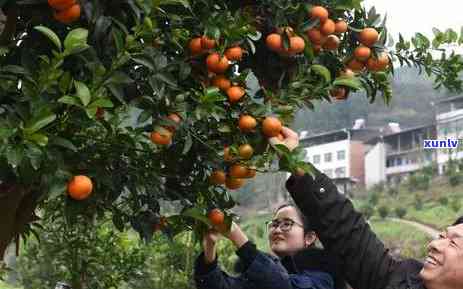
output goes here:
{"type": "Polygon", "coordinates": [[[450,159],[463,159],[463,97],[452,97],[436,104],[437,139],[458,140],[459,145],[454,149],[437,149],[437,165],[439,174],[444,173],[450,159]]]}

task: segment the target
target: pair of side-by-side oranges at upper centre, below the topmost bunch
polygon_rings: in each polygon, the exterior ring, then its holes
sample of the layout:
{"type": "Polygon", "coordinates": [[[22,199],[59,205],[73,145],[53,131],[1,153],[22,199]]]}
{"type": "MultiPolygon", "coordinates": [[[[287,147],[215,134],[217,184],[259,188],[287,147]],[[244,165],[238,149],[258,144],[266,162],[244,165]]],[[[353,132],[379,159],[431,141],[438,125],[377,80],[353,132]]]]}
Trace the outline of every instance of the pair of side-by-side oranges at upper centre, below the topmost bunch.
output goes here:
{"type": "Polygon", "coordinates": [[[284,56],[291,56],[302,53],[305,48],[304,38],[297,36],[291,27],[278,28],[275,33],[271,33],[265,39],[267,47],[284,56]],[[283,33],[288,37],[288,47],[283,45],[283,33]]]}

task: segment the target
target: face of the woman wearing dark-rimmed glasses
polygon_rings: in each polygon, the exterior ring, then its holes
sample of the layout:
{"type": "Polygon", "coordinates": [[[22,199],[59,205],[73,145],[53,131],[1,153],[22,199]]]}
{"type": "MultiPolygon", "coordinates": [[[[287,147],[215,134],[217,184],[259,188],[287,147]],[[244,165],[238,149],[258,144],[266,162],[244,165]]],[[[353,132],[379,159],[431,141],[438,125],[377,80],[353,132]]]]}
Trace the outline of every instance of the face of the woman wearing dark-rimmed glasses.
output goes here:
{"type": "Polygon", "coordinates": [[[303,220],[294,207],[284,207],[268,227],[270,249],[279,257],[292,255],[314,242],[304,234],[303,220]]]}

